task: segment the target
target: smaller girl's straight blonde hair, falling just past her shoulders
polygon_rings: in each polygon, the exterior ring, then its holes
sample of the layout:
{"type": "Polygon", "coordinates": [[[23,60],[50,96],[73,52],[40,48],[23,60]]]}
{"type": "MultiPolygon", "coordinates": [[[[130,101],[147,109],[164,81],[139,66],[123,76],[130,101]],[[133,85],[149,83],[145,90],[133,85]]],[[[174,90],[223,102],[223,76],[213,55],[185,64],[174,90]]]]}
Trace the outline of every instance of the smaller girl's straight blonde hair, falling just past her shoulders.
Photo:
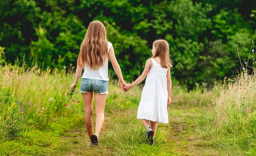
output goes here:
{"type": "Polygon", "coordinates": [[[166,40],[155,40],[153,43],[155,53],[153,58],[159,57],[163,68],[172,68],[172,60],[169,53],[169,45],[166,40]]]}

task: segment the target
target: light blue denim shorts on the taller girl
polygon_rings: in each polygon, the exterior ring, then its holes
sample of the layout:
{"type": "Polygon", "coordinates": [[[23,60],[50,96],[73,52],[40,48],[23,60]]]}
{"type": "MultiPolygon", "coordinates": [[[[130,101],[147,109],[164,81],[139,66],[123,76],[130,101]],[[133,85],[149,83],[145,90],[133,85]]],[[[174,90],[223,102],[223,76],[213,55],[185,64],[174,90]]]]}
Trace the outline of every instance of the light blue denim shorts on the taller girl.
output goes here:
{"type": "Polygon", "coordinates": [[[94,92],[97,94],[108,94],[108,81],[82,78],[80,92],[94,92]]]}

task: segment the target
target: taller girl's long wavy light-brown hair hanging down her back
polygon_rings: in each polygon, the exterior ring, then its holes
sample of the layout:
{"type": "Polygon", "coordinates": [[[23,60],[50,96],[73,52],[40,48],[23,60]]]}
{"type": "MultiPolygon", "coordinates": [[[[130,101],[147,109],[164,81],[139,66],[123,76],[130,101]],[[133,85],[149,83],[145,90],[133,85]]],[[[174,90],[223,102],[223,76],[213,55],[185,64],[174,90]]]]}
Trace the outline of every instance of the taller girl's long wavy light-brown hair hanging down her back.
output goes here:
{"type": "Polygon", "coordinates": [[[97,70],[108,60],[108,39],[105,26],[98,20],[88,26],[84,40],[81,43],[77,59],[78,66],[87,66],[97,70]]]}

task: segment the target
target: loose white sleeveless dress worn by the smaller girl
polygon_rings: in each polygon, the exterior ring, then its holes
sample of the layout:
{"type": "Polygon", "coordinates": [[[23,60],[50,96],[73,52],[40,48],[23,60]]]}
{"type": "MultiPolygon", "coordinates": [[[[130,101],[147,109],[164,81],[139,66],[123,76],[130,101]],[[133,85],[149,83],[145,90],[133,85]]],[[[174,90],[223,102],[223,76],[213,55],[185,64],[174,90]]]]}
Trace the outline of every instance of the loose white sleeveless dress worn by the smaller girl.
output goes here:
{"type": "Polygon", "coordinates": [[[167,71],[151,58],[153,66],[149,70],[143,87],[137,118],[167,124],[167,71]]]}

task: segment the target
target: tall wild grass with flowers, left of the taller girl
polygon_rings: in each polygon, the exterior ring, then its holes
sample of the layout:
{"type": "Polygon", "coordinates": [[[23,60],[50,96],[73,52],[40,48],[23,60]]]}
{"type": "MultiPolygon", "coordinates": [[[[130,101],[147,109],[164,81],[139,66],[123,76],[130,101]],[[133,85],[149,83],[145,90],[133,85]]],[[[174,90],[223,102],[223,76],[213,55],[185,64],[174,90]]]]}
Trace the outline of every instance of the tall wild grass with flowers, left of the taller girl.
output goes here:
{"type": "Polygon", "coordinates": [[[12,133],[20,129],[16,124],[6,126],[12,115],[17,117],[12,119],[17,123],[44,129],[60,112],[62,116],[67,113],[63,103],[70,78],[71,75],[65,72],[41,71],[37,66],[27,68],[25,63],[1,66],[1,131],[12,133]]]}

